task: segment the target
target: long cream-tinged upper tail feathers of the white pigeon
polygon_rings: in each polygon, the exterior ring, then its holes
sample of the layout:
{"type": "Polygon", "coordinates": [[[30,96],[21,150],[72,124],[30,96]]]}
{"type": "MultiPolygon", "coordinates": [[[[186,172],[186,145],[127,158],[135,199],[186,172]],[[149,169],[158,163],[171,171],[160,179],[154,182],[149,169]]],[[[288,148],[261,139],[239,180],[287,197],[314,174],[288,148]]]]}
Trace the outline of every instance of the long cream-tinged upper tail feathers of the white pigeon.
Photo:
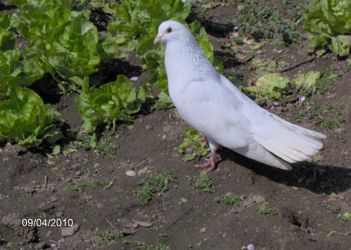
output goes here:
{"type": "Polygon", "coordinates": [[[325,135],[291,123],[288,125],[280,126],[268,140],[258,136],[254,136],[254,139],[289,163],[308,160],[323,148],[321,139],[325,138],[325,135]]]}

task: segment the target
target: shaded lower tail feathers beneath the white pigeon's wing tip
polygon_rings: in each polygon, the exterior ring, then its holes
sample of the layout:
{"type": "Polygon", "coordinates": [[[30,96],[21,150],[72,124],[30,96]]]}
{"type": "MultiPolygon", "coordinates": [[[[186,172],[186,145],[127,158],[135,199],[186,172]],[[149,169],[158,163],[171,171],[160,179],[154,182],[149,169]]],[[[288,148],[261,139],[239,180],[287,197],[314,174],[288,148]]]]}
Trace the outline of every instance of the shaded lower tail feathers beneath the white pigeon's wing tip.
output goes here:
{"type": "Polygon", "coordinates": [[[232,148],[232,150],[264,164],[285,170],[291,170],[289,163],[275,157],[267,149],[265,149],[254,140],[245,148],[232,148]]]}

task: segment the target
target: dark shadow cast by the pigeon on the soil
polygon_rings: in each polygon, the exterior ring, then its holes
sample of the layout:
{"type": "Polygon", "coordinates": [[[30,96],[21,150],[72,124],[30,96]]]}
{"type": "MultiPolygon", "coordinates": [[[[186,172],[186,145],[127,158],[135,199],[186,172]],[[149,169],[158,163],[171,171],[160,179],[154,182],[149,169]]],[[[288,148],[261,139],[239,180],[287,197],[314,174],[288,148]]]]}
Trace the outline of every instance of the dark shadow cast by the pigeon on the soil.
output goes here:
{"type": "Polygon", "coordinates": [[[222,161],[233,161],[252,170],[256,175],[264,176],[286,186],[306,188],[316,194],[342,192],[351,186],[350,168],[305,161],[291,164],[292,170],[288,171],[251,160],[228,148],[222,148],[220,155],[222,161]]]}

